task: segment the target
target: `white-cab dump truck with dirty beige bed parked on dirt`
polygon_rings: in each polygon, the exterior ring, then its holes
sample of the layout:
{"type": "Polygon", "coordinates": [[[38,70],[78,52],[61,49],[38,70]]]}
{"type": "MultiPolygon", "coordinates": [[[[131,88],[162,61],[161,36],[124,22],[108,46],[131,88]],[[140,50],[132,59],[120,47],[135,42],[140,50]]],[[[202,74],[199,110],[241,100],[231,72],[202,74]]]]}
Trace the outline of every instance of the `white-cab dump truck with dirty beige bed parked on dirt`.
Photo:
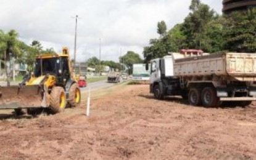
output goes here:
{"type": "Polygon", "coordinates": [[[256,54],[181,50],[151,60],[150,92],[157,99],[181,95],[193,106],[247,106],[256,100],[255,81],[256,54]]]}

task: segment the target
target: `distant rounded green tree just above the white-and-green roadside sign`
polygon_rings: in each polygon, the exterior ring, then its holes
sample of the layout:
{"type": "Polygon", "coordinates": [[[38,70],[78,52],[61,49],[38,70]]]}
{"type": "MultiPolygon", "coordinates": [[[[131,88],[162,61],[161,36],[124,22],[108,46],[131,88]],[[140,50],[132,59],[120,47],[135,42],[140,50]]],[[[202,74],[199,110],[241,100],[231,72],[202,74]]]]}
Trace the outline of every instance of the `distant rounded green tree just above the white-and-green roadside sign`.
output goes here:
{"type": "Polygon", "coordinates": [[[127,68],[132,68],[133,64],[135,63],[142,63],[142,59],[139,57],[139,54],[136,54],[133,51],[128,51],[120,58],[122,59],[122,63],[124,63],[127,68]]]}

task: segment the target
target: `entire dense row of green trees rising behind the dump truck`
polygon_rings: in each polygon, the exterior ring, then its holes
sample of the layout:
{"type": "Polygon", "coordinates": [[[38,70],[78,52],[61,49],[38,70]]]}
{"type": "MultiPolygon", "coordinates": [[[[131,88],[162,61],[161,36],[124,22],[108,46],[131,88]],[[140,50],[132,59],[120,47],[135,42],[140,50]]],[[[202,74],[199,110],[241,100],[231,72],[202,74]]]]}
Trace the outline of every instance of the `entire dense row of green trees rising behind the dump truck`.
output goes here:
{"type": "Polygon", "coordinates": [[[250,7],[226,15],[200,0],[192,0],[184,22],[170,30],[164,21],[157,24],[158,39],[150,39],[144,47],[145,62],[180,49],[201,49],[204,52],[256,52],[256,10],[250,7]]]}

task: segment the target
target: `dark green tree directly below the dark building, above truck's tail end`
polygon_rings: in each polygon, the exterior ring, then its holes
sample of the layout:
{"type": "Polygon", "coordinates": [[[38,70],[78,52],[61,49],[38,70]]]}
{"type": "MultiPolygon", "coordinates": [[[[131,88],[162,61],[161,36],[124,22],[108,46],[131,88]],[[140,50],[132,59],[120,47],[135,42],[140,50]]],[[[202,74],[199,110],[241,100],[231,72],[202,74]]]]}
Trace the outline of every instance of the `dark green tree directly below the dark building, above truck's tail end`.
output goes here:
{"type": "Polygon", "coordinates": [[[224,49],[232,52],[256,52],[256,19],[252,10],[233,12],[225,17],[224,49]]]}

